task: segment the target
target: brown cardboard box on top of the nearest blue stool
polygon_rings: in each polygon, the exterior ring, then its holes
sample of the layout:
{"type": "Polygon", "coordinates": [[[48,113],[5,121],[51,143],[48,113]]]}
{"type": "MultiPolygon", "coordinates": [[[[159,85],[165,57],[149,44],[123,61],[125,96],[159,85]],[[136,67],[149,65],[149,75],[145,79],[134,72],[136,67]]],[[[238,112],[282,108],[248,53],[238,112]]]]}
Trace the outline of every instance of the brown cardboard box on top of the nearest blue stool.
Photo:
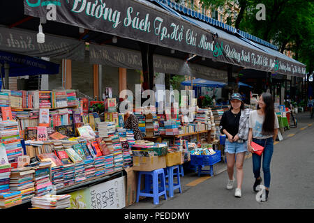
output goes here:
{"type": "Polygon", "coordinates": [[[153,171],[165,167],[165,155],[151,157],[133,156],[133,170],[135,171],[153,171]]]}

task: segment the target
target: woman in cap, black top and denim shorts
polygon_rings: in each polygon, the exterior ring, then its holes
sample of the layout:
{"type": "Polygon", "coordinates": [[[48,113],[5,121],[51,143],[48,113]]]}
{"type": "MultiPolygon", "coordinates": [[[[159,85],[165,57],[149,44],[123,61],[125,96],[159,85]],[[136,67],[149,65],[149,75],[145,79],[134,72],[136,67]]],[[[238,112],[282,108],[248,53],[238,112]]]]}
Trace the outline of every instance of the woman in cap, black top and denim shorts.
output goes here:
{"type": "Polygon", "coordinates": [[[225,154],[227,156],[227,174],[229,180],[227,189],[231,190],[234,184],[234,162],[237,155],[237,189],[234,196],[241,197],[241,185],[243,181],[243,162],[247,146],[243,138],[239,138],[240,117],[244,114],[244,102],[239,93],[233,93],[230,99],[231,109],[225,111],[220,120],[220,132],[226,135],[225,154]],[[242,115],[241,115],[242,113],[242,115]]]}

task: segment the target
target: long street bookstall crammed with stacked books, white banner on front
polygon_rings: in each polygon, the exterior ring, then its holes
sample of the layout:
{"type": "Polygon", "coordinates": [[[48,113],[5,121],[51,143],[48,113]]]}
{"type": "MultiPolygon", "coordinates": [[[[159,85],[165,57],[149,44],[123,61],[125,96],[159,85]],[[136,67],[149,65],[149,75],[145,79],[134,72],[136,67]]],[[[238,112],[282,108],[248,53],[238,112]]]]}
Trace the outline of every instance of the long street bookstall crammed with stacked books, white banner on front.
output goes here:
{"type": "Polygon", "coordinates": [[[195,156],[221,160],[216,126],[227,107],[197,109],[193,120],[135,109],[135,140],[115,98],[103,115],[75,90],[1,90],[0,102],[1,208],[124,208],[135,202],[137,172],[192,164],[202,174],[207,163],[195,156]]]}

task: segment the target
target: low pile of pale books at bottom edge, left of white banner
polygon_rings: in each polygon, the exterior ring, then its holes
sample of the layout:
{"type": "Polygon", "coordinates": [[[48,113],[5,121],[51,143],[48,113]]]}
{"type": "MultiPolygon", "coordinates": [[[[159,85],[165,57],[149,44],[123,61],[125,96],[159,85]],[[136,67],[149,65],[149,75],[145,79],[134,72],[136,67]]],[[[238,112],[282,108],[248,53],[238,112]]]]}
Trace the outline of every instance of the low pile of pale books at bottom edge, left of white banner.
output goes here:
{"type": "Polygon", "coordinates": [[[44,196],[33,197],[31,205],[33,208],[40,209],[65,209],[70,207],[70,195],[52,195],[46,194],[44,196]]]}

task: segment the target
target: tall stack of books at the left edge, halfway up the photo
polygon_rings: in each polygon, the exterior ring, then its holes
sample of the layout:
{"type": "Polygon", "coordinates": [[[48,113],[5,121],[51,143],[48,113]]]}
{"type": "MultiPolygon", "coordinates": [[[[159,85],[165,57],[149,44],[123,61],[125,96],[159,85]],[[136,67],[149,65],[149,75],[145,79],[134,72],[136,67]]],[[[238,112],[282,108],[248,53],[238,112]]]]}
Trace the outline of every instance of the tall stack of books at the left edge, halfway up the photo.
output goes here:
{"type": "Polygon", "coordinates": [[[17,157],[22,155],[22,144],[16,121],[0,122],[0,141],[6,147],[8,161],[17,162],[17,157]]]}

